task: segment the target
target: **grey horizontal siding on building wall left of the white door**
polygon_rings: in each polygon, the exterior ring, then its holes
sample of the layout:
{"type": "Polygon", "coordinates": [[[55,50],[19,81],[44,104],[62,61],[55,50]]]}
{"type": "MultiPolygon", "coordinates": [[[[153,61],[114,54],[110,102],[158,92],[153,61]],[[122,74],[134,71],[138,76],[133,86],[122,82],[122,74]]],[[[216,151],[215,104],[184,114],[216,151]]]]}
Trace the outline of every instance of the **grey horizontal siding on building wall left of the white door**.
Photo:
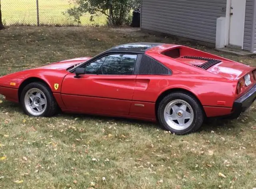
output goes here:
{"type": "Polygon", "coordinates": [[[142,0],[141,28],[215,44],[226,0],[142,0]]]}

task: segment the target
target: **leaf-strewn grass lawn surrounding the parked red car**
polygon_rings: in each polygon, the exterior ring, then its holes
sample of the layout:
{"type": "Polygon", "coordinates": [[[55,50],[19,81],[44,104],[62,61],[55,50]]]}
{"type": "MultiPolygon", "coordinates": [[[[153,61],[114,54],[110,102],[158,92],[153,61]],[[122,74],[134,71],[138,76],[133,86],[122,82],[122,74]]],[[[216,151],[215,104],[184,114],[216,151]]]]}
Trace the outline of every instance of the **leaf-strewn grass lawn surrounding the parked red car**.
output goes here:
{"type": "MultiPolygon", "coordinates": [[[[255,57],[129,28],[10,27],[0,31],[0,76],[128,42],[192,46],[247,65],[255,57]]],[[[2,189],[252,189],[256,187],[256,108],[172,135],[158,124],[60,113],[33,118],[0,96],[2,189]],[[222,175],[222,174],[224,175],[222,175]],[[221,176],[222,175],[222,176],[221,176]]]]}

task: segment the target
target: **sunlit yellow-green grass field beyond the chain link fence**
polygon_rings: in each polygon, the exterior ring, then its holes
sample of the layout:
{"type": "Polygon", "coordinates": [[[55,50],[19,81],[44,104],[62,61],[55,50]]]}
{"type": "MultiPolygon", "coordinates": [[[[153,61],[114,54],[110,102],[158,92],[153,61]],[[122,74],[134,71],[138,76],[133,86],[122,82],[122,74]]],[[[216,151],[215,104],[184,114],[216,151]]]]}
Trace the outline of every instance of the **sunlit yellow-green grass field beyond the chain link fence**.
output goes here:
{"type": "MultiPolygon", "coordinates": [[[[70,17],[63,13],[74,6],[70,0],[38,0],[40,24],[48,25],[73,25],[70,17]]],[[[1,1],[2,19],[4,25],[36,25],[36,0],[4,0],[1,1]]],[[[106,16],[99,14],[90,22],[90,15],[85,14],[81,18],[81,24],[88,25],[105,25],[106,16]]]]}

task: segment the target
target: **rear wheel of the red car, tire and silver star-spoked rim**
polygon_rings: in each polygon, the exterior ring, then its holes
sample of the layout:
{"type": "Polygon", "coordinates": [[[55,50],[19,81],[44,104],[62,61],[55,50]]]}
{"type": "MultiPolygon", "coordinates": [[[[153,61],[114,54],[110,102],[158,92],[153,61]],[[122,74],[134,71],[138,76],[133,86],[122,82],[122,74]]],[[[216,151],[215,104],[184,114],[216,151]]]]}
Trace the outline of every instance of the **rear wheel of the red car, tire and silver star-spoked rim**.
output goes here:
{"type": "Polygon", "coordinates": [[[166,95],[158,106],[158,120],[176,134],[198,130],[204,121],[204,112],[197,99],[183,92],[166,95]]]}

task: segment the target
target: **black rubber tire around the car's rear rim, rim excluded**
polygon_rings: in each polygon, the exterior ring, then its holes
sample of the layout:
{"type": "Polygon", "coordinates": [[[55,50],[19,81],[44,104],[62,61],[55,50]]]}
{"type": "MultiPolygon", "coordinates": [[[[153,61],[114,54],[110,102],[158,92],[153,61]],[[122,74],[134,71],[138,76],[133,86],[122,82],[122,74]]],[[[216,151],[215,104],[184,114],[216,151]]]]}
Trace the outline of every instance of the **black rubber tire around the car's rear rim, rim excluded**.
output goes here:
{"type": "Polygon", "coordinates": [[[158,121],[161,126],[165,127],[168,131],[171,131],[172,133],[178,134],[178,135],[184,135],[193,131],[198,130],[204,121],[204,111],[202,109],[202,105],[198,102],[198,100],[190,95],[186,94],[184,92],[174,92],[171,94],[166,95],[162,101],[160,101],[157,109],[157,114],[158,114],[158,121]],[[194,112],[194,119],[192,123],[183,130],[177,130],[172,128],[168,123],[166,122],[164,118],[164,109],[168,103],[170,103],[173,100],[183,100],[186,103],[188,103],[193,112],[194,112]]]}

